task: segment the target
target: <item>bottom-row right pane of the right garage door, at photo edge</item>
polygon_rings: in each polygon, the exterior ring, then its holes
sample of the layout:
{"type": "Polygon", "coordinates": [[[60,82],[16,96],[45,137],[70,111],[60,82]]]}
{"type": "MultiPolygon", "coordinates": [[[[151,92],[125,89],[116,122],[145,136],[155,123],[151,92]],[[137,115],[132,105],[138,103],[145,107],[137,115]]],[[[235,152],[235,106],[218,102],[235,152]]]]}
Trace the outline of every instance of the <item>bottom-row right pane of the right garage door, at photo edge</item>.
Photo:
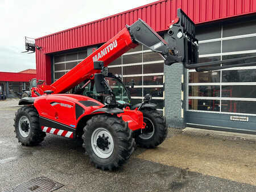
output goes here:
{"type": "Polygon", "coordinates": [[[221,101],[221,111],[256,114],[255,101],[221,101]]]}

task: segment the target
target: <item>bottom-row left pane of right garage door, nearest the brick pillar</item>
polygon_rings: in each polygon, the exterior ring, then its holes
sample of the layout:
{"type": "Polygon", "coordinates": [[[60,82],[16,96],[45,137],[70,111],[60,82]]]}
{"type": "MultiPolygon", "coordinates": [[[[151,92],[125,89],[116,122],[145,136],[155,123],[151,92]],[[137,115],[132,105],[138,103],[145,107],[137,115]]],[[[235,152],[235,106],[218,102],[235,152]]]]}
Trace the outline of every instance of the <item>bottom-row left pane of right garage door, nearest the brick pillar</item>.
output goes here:
{"type": "Polygon", "coordinates": [[[189,110],[220,111],[220,101],[205,99],[188,99],[189,110]]]}

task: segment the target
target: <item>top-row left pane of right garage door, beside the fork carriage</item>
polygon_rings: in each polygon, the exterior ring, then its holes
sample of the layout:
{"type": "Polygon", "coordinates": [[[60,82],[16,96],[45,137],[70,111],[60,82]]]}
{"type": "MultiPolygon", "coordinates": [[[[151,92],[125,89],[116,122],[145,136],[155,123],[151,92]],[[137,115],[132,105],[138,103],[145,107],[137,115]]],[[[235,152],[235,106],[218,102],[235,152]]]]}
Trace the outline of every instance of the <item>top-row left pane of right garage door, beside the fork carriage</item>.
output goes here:
{"type": "Polygon", "coordinates": [[[210,24],[203,26],[196,26],[196,38],[201,40],[217,39],[221,37],[221,25],[210,24]]]}

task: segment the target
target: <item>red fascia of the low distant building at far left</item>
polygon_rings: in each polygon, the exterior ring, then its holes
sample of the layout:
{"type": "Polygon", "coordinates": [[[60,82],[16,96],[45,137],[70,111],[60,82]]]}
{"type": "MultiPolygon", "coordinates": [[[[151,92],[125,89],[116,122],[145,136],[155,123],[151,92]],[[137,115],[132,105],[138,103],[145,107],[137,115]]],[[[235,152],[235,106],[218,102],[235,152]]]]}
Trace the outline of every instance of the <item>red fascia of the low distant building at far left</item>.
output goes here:
{"type": "Polygon", "coordinates": [[[0,81],[28,82],[32,78],[36,78],[36,74],[0,72],[0,81]]]}

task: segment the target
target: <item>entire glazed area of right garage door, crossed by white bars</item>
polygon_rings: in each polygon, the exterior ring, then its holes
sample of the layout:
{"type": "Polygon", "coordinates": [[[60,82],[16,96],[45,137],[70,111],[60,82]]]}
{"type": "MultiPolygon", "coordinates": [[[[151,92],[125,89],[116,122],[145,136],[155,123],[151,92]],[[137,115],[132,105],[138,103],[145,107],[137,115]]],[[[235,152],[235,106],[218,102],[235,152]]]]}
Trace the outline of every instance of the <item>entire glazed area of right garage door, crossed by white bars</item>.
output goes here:
{"type": "MultiPolygon", "coordinates": [[[[256,56],[256,20],[196,28],[199,62],[256,56]]],[[[256,59],[233,62],[255,62],[256,59]]],[[[225,64],[223,64],[225,65],[225,64]]],[[[188,70],[187,110],[256,115],[256,67],[188,70]]]]}

